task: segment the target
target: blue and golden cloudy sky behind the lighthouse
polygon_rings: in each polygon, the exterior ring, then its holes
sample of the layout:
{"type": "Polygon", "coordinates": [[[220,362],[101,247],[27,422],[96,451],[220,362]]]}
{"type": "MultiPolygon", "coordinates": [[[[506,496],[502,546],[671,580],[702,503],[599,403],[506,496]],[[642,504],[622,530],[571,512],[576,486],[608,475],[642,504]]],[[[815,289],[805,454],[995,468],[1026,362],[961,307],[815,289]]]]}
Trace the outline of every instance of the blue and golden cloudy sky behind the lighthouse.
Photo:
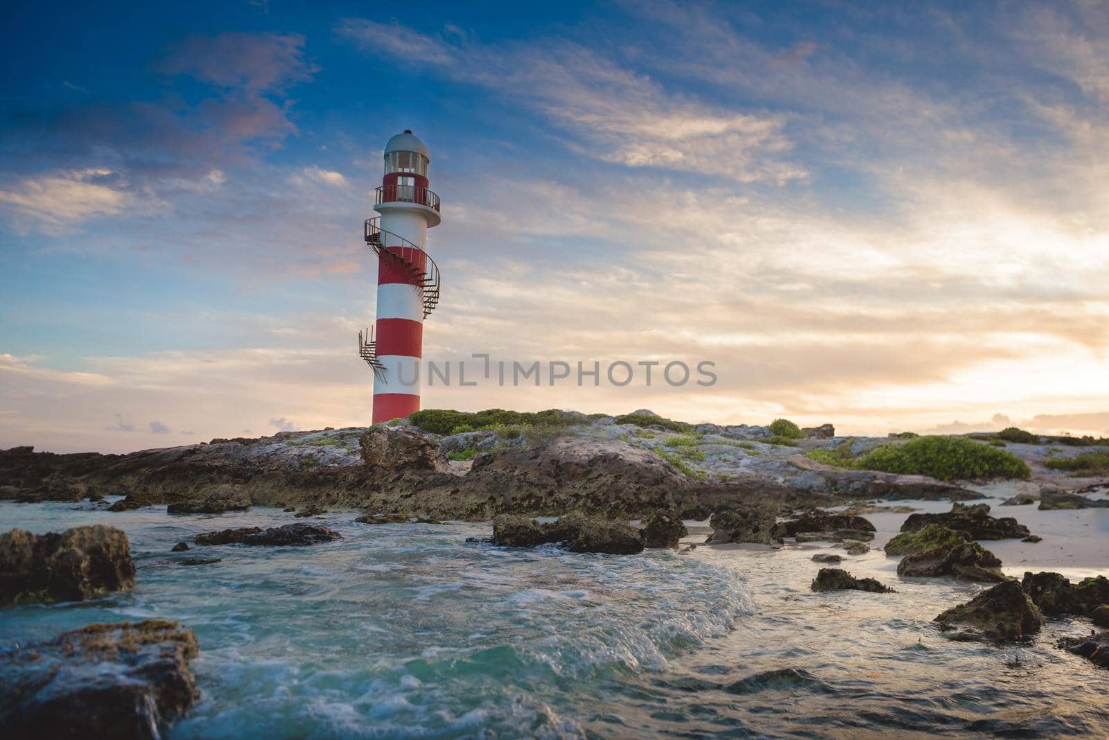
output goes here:
{"type": "Polygon", "coordinates": [[[424,408],[1109,435],[1109,3],[103,4],[2,11],[0,448],[367,424],[405,129],[425,359],[601,363],[424,408]]]}

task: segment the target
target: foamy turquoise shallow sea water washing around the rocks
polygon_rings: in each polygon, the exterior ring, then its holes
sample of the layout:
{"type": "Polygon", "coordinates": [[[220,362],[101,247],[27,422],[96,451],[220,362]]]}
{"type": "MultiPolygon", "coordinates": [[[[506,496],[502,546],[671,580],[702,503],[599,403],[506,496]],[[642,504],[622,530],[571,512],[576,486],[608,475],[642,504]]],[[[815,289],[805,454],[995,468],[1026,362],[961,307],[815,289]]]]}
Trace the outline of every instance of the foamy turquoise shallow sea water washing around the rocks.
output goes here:
{"type": "MultiPolygon", "coordinates": [[[[0,531],[122,527],[138,587],[4,609],[0,640],[181,620],[201,644],[203,698],[175,739],[1109,733],[1109,671],[1054,646],[1088,620],[1052,620],[1020,646],[948,641],[932,618],[979,587],[898,580],[879,551],[844,567],[897,594],[814,594],[813,546],[574,555],[465,542],[488,524],[367,526],[347,513],[323,517],[336,543],[171,554],[200,532],[303,520],[75,506],[0,503],[0,531]],[[174,565],[183,557],[223,561],[174,565]]],[[[1109,510],[1076,514],[1109,531],[1109,510]]],[[[895,530],[904,515],[868,518],[895,530]]]]}

